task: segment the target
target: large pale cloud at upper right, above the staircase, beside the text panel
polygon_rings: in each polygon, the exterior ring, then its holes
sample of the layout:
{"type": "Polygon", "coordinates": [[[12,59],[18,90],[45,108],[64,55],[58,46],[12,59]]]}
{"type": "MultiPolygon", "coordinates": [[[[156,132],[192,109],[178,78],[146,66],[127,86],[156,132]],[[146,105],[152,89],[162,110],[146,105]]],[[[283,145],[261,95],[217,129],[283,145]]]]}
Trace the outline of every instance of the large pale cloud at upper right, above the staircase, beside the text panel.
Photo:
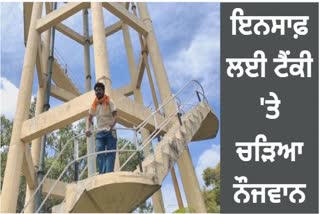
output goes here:
{"type": "Polygon", "coordinates": [[[200,81],[209,99],[218,102],[220,88],[219,14],[203,17],[201,28],[188,46],[167,59],[166,67],[171,86],[179,89],[191,79],[200,81]]]}

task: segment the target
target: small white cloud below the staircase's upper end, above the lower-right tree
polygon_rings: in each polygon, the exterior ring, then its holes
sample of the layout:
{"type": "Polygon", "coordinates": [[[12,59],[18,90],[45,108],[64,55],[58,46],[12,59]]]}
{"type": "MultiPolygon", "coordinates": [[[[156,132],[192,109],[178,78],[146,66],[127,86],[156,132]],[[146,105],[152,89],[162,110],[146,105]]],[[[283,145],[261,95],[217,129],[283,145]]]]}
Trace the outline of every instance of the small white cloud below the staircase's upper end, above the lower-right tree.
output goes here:
{"type": "Polygon", "coordinates": [[[213,144],[210,149],[204,151],[195,168],[200,187],[204,186],[202,172],[207,167],[215,167],[220,161],[220,145],[213,144]]]}

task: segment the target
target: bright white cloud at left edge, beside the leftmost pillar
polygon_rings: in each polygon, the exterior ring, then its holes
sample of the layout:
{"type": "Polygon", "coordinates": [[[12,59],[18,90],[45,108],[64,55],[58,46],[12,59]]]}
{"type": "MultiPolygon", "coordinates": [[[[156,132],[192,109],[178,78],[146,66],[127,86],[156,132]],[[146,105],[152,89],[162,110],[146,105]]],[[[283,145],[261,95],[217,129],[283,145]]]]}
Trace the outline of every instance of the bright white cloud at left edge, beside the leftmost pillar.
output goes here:
{"type": "Polygon", "coordinates": [[[19,89],[4,77],[0,77],[1,115],[13,119],[19,89]]]}

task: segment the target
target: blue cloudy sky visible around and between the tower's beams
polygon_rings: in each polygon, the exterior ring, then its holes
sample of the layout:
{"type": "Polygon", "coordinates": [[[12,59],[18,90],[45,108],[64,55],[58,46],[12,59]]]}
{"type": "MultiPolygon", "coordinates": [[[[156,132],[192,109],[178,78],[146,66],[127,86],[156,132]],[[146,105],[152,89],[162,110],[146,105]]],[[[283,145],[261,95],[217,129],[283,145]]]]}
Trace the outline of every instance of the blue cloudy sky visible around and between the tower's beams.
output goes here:
{"type": "MultiPolygon", "coordinates": [[[[1,4],[1,114],[13,119],[24,58],[23,6],[22,3],[1,4]]],[[[62,6],[60,2],[58,7],[62,6]]],[[[198,80],[205,90],[206,97],[220,120],[220,4],[219,3],[148,3],[149,13],[167,71],[173,93],[189,80],[198,80]]],[[[118,18],[104,11],[105,26],[118,21],[118,18]]],[[[77,13],[63,21],[64,24],[82,33],[82,13],[77,13]]],[[[89,10],[89,26],[91,26],[89,10]]],[[[89,27],[90,35],[92,29],[89,27]]],[[[130,28],[135,60],[138,63],[141,52],[138,34],[130,28]]],[[[109,56],[112,87],[119,88],[130,82],[122,32],[106,39],[109,56]]],[[[84,92],[83,47],[63,34],[56,32],[56,54],[60,63],[67,64],[68,75],[84,92]]],[[[94,71],[93,46],[90,47],[91,71],[94,71]]],[[[93,80],[95,77],[93,76],[93,80]]],[[[155,79],[154,79],[155,81],[155,79]]],[[[94,84],[94,82],[92,82],[94,84]]],[[[33,96],[36,96],[37,77],[35,72],[33,96]]],[[[147,75],[142,81],[144,103],[151,103],[147,75]]],[[[62,102],[51,98],[52,108],[62,102]]],[[[192,142],[189,149],[194,168],[200,183],[202,171],[214,167],[220,161],[220,132],[215,139],[192,142]]],[[[183,193],[179,170],[175,166],[179,187],[183,193]]],[[[162,185],[162,193],[167,212],[178,208],[171,176],[162,185]]]]}

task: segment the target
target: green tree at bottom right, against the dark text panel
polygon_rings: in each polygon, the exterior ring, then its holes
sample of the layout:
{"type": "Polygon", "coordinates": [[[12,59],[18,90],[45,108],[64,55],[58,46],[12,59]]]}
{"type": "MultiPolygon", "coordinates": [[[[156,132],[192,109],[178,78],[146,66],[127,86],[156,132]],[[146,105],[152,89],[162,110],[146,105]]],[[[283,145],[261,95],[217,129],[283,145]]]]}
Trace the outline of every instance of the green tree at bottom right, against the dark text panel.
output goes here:
{"type": "Polygon", "coordinates": [[[202,195],[208,212],[220,212],[220,163],[215,168],[208,167],[202,173],[205,187],[202,195]]]}

